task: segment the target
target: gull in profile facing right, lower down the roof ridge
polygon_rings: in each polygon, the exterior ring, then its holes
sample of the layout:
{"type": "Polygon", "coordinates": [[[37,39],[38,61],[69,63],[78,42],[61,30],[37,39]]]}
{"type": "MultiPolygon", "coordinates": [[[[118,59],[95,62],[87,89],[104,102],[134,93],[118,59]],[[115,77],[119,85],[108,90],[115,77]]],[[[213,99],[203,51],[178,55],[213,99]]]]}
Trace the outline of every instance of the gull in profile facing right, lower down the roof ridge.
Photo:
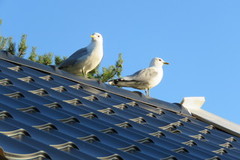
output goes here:
{"type": "Polygon", "coordinates": [[[169,64],[161,58],[153,58],[149,67],[139,70],[136,73],[110,80],[108,83],[118,87],[132,87],[145,90],[147,96],[150,96],[150,89],[158,85],[163,77],[163,65],[169,64]]]}

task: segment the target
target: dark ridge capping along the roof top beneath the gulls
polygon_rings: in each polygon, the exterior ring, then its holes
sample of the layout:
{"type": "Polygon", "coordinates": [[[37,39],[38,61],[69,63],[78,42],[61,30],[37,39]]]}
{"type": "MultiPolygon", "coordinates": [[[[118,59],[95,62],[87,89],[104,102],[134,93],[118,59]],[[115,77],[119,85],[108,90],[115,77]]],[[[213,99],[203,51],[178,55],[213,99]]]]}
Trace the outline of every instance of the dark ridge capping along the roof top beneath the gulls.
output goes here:
{"type": "Polygon", "coordinates": [[[170,102],[162,101],[159,99],[151,98],[151,97],[146,97],[143,94],[139,94],[136,92],[131,92],[128,90],[120,89],[117,87],[113,87],[110,85],[107,85],[105,83],[101,83],[97,80],[93,79],[86,79],[84,77],[76,76],[70,73],[67,73],[65,71],[59,70],[55,66],[47,66],[43,64],[39,64],[27,59],[23,59],[20,57],[17,57],[15,55],[12,55],[8,53],[7,51],[0,50],[0,59],[15,63],[18,65],[26,66],[41,72],[49,73],[52,75],[59,76],[61,78],[65,78],[74,82],[78,82],[87,86],[91,86],[95,89],[99,89],[102,91],[107,91],[111,94],[115,94],[124,98],[132,99],[134,101],[147,104],[149,106],[155,107],[155,108],[163,108],[168,111],[176,112],[179,114],[187,115],[190,116],[189,112],[182,106],[176,105],[170,102]],[[44,68],[44,69],[41,69],[44,68]]]}

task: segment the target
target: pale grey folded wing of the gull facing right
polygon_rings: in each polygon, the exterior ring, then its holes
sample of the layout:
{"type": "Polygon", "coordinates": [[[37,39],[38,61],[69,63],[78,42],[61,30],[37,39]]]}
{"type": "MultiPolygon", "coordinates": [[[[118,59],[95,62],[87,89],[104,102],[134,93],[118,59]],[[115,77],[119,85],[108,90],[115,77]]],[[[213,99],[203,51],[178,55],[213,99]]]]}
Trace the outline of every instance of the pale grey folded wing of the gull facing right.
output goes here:
{"type": "Polygon", "coordinates": [[[152,77],[157,76],[158,72],[156,71],[155,68],[145,68],[143,70],[137,71],[134,74],[127,76],[126,78],[128,80],[132,79],[135,81],[148,81],[150,80],[152,77]]]}

